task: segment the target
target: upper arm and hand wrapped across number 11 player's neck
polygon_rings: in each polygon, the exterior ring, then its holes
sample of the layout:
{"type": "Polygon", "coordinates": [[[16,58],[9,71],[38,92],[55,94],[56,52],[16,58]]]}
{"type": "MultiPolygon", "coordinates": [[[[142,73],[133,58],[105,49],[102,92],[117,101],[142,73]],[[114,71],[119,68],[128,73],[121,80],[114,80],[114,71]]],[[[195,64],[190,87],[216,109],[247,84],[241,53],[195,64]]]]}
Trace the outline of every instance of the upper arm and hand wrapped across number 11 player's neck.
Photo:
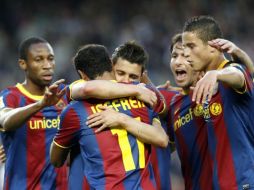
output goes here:
{"type": "Polygon", "coordinates": [[[73,83],[70,86],[70,91],[72,99],[115,99],[126,96],[135,96],[152,107],[157,101],[156,94],[145,87],[106,80],[73,83]]]}

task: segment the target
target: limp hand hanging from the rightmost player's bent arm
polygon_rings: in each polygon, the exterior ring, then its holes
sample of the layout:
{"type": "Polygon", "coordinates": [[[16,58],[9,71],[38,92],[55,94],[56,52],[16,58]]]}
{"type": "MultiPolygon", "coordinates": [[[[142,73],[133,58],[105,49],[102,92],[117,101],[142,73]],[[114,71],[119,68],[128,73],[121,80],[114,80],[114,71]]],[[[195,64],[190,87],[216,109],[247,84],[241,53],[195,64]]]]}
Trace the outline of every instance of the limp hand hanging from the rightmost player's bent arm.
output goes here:
{"type": "Polygon", "coordinates": [[[217,71],[208,71],[203,78],[201,78],[196,86],[193,88],[192,101],[199,103],[205,103],[211,100],[214,90],[217,88],[217,71]]]}

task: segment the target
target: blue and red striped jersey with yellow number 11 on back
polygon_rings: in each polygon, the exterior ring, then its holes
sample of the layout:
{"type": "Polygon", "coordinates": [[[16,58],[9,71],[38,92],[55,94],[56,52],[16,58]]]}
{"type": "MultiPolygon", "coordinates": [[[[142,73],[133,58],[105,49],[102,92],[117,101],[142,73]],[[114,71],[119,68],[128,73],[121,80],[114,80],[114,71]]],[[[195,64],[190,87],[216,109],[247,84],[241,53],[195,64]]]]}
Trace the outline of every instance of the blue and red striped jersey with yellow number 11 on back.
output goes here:
{"type": "Polygon", "coordinates": [[[84,176],[91,189],[156,189],[150,145],[122,128],[95,133],[85,124],[87,116],[100,111],[100,105],[149,124],[157,117],[157,112],[134,97],[74,101],[61,114],[55,144],[63,148],[79,144],[84,176]]]}

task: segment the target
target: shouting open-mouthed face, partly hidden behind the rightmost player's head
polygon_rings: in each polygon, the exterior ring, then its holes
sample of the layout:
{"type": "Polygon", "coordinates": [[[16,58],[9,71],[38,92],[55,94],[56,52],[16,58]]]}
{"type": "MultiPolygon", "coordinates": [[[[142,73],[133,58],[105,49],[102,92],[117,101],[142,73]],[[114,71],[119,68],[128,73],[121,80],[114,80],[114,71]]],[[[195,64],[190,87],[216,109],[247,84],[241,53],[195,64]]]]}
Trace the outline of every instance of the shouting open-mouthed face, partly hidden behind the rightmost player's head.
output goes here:
{"type": "Polygon", "coordinates": [[[195,72],[187,62],[184,56],[182,43],[180,42],[177,42],[173,46],[170,68],[174,75],[177,86],[184,89],[193,85],[194,81],[196,81],[198,78],[198,72],[195,72]]]}

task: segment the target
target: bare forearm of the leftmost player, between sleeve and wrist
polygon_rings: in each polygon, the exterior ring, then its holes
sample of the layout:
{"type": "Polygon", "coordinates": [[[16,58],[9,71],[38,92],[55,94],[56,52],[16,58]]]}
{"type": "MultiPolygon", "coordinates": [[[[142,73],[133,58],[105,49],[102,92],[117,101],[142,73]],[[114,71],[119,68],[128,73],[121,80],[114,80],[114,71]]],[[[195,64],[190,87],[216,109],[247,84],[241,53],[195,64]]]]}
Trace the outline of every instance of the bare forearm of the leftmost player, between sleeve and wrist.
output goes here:
{"type": "Polygon", "coordinates": [[[42,108],[40,102],[14,109],[4,108],[0,112],[0,124],[5,131],[16,130],[42,108]]]}

